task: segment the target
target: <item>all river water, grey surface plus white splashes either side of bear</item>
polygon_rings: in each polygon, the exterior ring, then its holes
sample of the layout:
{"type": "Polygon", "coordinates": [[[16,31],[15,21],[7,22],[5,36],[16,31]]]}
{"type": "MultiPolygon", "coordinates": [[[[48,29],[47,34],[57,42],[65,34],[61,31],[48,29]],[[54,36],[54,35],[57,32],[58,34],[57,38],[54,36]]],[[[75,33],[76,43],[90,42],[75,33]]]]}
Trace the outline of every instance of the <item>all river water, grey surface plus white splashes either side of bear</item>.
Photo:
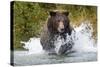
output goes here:
{"type": "Polygon", "coordinates": [[[67,55],[48,55],[42,50],[40,38],[30,38],[27,42],[21,42],[28,51],[14,51],[14,65],[39,65],[55,63],[73,63],[97,61],[97,43],[92,38],[91,24],[82,23],[75,28],[76,38],[72,51],[67,55]]]}

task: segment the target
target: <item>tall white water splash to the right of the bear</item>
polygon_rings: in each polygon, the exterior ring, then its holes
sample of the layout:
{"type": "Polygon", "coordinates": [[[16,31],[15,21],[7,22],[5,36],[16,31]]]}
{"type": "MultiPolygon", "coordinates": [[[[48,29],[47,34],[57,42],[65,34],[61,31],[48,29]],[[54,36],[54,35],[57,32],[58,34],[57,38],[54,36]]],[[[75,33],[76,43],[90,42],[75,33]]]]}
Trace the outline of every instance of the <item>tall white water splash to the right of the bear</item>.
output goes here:
{"type": "Polygon", "coordinates": [[[75,28],[76,40],[74,49],[78,52],[96,52],[96,43],[92,37],[93,28],[90,23],[82,23],[79,27],[75,28]]]}

